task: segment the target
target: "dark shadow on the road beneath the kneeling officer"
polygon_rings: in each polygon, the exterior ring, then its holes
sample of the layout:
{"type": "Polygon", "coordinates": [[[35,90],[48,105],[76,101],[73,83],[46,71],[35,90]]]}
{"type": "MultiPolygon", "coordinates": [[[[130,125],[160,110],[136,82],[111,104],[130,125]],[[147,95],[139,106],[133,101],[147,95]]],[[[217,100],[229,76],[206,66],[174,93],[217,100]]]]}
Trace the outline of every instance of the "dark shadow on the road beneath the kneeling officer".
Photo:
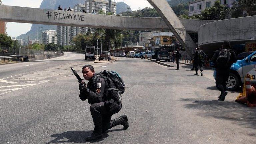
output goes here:
{"type": "MultiPolygon", "coordinates": [[[[108,130],[107,133],[113,132],[113,131],[121,131],[123,129],[114,129],[114,130],[108,130]]],[[[107,133],[104,133],[101,139],[94,140],[94,141],[86,141],[85,138],[89,136],[93,131],[67,131],[64,133],[58,133],[58,134],[52,134],[51,137],[54,137],[55,139],[46,143],[94,143],[104,140],[104,138],[107,138],[109,135],[107,133]]]]}

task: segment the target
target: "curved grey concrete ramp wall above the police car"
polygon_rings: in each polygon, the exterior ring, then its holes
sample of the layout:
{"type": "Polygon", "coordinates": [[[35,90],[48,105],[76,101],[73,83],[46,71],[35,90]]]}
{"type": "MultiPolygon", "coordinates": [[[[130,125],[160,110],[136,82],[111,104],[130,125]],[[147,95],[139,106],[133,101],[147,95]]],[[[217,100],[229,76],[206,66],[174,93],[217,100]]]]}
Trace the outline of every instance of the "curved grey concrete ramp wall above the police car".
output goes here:
{"type": "Polygon", "coordinates": [[[221,47],[223,41],[244,43],[256,38],[256,16],[215,21],[200,26],[198,45],[209,55],[221,47]]]}

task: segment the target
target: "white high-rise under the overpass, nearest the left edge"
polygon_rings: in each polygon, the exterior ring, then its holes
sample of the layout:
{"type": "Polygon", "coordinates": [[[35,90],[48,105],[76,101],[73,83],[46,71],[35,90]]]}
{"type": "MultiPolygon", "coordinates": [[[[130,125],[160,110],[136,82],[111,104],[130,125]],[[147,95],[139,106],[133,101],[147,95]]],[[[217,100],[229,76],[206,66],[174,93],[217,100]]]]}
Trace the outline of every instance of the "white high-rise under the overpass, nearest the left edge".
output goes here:
{"type": "Polygon", "coordinates": [[[42,38],[41,38],[42,44],[50,44],[54,43],[57,44],[57,33],[55,30],[46,30],[42,32],[42,38]]]}

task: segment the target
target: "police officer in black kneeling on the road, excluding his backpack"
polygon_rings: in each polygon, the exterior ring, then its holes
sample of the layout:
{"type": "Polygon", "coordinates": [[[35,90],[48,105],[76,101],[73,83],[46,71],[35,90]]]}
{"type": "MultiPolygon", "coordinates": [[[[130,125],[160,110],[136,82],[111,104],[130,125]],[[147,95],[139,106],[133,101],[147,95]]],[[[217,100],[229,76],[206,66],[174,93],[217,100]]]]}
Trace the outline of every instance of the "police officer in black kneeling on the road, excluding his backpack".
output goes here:
{"type": "Polygon", "coordinates": [[[126,130],[129,127],[126,115],[111,120],[111,116],[118,113],[122,108],[122,102],[114,101],[109,93],[108,89],[115,87],[113,83],[107,83],[102,76],[95,74],[91,65],[85,65],[82,72],[85,80],[89,82],[87,85],[84,82],[79,84],[79,97],[82,101],[88,99],[88,103],[91,104],[90,111],[94,123],[94,131],[86,137],[86,140],[100,139],[102,133],[116,125],[121,124],[124,126],[123,130],[126,130]]]}

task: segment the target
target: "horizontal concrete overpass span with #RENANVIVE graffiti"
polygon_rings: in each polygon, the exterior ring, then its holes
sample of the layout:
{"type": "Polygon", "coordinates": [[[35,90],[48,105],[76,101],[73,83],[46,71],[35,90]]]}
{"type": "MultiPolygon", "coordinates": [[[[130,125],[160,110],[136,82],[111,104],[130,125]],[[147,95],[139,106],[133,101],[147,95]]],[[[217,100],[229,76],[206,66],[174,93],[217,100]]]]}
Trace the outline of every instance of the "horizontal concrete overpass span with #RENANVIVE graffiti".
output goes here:
{"type": "MultiPolygon", "coordinates": [[[[111,16],[6,5],[0,5],[0,21],[111,29],[170,30],[162,18],[111,16]],[[51,17],[48,17],[48,11],[51,12],[49,13],[49,15],[52,15],[51,17]],[[62,14],[60,17],[59,13],[62,14]],[[72,14],[72,19],[70,15],[69,17],[66,15],[66,19],[63,19],[63,13],[72,14]],[[57,18],[55,14],[58,14],[56,15],[57,18]],[[77,15],[80,16],[80,20],[77,15]]],[[[197,32],[199,26],[211,21],[181,19],[181,22],[187,31],[197,32]]]]}

